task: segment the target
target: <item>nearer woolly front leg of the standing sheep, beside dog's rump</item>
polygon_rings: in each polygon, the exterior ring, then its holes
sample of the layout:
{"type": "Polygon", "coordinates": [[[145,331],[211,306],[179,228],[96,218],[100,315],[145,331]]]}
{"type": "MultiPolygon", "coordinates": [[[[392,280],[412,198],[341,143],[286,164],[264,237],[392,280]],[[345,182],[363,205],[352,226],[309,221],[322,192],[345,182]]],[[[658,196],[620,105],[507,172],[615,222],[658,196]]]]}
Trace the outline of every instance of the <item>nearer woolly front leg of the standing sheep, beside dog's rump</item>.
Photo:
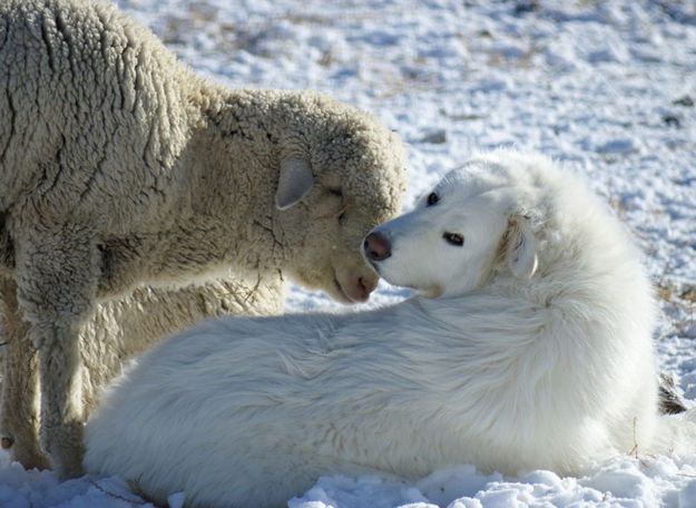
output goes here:
{"type": "Polygon", "coordinates": [[[95,305],[100,256],[81,225],[24,229],[17,237],[17,296],[38,352],[41,447],[61,478],[79,476],[82,394],[79,331],[95,305]]]}

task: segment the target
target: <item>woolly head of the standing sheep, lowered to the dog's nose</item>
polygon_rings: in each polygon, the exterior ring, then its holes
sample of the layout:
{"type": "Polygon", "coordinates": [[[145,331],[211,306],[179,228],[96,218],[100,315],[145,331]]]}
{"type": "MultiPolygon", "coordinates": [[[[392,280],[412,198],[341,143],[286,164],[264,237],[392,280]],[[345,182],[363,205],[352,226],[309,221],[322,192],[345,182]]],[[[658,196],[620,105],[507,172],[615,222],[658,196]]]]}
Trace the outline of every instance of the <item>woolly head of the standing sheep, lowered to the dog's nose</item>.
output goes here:
{"type": "Polygon", "coordinates": [[[275,197],[288,250],[283,271],[340,302],[362,302],[379,280],[362,241],[401,209],[404,150],[371,116],[333,101],[322,107],[329,114],[308,131],[291,129],[282,148],[275,197]]]}

